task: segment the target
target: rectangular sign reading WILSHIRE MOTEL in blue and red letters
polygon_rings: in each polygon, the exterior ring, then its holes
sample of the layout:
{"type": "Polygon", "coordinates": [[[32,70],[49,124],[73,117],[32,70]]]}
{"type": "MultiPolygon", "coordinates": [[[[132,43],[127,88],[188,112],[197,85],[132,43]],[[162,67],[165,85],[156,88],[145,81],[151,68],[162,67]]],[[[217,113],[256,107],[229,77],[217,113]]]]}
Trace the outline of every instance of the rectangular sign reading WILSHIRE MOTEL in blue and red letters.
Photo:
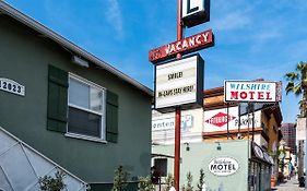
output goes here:
{"type": "Polygon", "coordinates": [[[275,103],[276,83],[264,81],[225,81],[225,102],[275,103]]]}

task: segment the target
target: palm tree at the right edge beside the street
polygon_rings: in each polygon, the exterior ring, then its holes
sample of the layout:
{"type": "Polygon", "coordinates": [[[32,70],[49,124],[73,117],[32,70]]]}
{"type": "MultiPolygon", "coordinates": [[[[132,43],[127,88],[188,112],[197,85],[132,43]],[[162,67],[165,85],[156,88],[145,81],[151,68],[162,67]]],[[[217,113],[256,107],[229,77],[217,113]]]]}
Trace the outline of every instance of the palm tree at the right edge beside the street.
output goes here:
{"type": "MultiPolygon", "coordinates": [[[[288,83],[286,84],[285,91],[286,95],[293,93],[296,96],[302,95],[299,100],[299,117],[306,117],[307,108],[307,62],[300,61],[296,64],[295,72],[290,72],[285,74],[288,83]]],[[[304,172],[304,141],[298,142],[298,177],[303,176],[304,172]]]]}

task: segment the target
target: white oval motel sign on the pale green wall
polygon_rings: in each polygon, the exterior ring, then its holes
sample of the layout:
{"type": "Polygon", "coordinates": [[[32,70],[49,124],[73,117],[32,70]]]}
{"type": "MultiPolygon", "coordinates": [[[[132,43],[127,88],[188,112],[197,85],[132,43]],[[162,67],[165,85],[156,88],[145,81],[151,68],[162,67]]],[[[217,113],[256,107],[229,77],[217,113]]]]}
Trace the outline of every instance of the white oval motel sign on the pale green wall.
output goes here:
{"type": "Polygon", "coordinates": [[[229,176],[239,169],[239,164],[231,157],[217,157],[209,163],[209,171],[219,177],[229,176]]]}

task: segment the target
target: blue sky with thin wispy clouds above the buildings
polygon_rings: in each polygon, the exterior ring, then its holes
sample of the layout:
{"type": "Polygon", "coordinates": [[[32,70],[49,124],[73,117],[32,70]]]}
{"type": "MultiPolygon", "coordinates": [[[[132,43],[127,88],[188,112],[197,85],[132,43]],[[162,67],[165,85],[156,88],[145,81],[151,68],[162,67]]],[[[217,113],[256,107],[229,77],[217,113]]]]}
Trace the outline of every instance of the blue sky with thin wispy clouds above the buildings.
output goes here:
{"type": "MultiPolygon", "coordinates": [[[[176,40],[177,0],[5,0],[17,10],[153,88],[149,50],[176,40]]],[[[224,80],[283,81],[307,61],[305,0],[211,0],[211,20],[185,36],[212,28],[215,46],[200,50],[204,88],[224,80]]],[[[283,87],[284,88],[284,87],[283,87]]],[[[284,122],[294,122],[298,99],[285,95],[284,122]]]]}

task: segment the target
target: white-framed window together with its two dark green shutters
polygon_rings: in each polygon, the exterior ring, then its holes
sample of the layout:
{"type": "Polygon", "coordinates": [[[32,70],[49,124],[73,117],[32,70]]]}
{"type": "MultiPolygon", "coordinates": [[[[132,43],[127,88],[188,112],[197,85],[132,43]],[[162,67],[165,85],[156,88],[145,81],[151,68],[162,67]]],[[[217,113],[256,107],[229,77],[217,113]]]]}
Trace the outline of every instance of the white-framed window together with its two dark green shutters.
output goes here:
{"type": "Polygon", "coordinates": [[[116,93],[48,65],[47,130],[70,138],[117,143],[118,116],[116,93]]]}

